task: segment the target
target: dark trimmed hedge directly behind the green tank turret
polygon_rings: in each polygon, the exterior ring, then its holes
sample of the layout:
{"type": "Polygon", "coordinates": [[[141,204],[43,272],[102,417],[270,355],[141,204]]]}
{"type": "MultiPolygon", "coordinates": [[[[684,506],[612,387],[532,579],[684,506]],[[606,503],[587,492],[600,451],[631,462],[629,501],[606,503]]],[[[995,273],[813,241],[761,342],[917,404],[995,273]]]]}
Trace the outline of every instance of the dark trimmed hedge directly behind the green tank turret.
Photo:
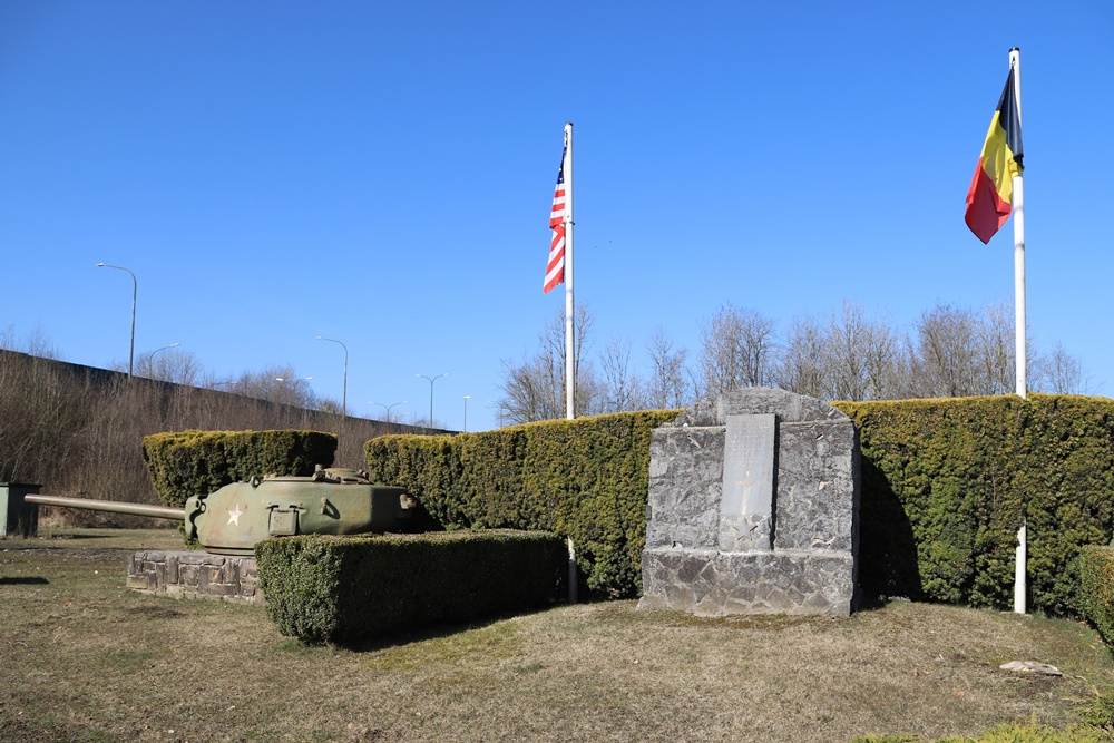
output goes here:
{"type": "Polygon", "coordinates": [[[180,508],[252,476],[313,475],[330,467],[336,436],[319,431],[180,431],[143,440],[143,460],[159,500],[180,508]]]}

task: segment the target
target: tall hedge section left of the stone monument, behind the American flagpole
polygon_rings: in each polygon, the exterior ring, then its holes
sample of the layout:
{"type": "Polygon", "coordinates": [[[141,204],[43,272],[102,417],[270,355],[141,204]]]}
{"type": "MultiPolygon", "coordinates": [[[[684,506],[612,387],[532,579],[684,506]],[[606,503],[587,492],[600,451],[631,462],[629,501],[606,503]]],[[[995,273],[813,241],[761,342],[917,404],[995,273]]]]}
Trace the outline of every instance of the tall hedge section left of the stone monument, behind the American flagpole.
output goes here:
{"type": "Polygon", "coordinates": [[[642,589],[649,434],[680,410],[543,421],[483,433],[368,441],[373,482],[404,487],[446,529],[570,537],[587,587],[642,589]]]}

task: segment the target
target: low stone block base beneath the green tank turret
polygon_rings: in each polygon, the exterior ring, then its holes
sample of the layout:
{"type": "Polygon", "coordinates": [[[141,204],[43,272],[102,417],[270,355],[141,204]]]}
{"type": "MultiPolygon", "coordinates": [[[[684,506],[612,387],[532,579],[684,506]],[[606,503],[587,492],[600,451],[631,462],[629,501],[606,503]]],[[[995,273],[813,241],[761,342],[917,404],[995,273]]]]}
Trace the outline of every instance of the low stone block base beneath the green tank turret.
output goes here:
{"type": "Polygon", "coordinates": [[[140,550],[128,558],[128,588],[173,598],[264,604],[254,557],[140,550]]]}

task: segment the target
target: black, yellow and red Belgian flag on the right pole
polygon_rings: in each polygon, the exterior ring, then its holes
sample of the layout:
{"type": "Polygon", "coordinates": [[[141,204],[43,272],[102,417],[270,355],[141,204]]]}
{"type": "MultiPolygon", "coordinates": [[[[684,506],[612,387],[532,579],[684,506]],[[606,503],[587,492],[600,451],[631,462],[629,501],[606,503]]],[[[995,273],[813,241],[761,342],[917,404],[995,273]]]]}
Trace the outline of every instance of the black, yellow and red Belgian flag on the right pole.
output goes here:
{"type": "Polygon", "coordinates": [[[1009,218],[1013,179],[1022,174],[1022,117],[1010,68],[967,192],[967,226],[984,243],[989,243],[1009,218]]]}

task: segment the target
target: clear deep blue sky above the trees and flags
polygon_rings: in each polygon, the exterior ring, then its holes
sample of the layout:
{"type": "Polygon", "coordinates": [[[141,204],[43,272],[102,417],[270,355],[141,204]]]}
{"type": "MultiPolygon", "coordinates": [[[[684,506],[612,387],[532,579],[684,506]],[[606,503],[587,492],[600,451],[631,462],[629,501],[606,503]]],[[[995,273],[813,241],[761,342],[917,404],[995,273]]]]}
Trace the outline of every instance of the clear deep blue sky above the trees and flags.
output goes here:
{"type": "Polygon", "coordinates": [[[1028,319],[1114,393],[1114,3],[0,3],[0,330],[273,364],[497,424],[534,352],[565,121],[595,350],[726,302],[902,327],[1009,302],[964,197],[1022,49],[1028,319]]]}

